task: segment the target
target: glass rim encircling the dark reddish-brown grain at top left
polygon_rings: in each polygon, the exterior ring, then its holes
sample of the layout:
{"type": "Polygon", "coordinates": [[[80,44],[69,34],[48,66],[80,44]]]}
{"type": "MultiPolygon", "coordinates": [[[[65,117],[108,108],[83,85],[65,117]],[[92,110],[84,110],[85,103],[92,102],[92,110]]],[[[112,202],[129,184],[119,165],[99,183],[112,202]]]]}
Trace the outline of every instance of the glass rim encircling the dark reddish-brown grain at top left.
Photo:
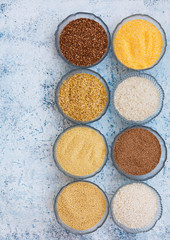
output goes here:
{"type": "MultiPolygon", "coordinates": [[[[80,18],[82,18],[81,16],[80,16],[80,18]]],[[[85,18],[85,17],[84,17],[85,18]]],[[[75,19],[78,19],[78,18],[75,18],[75,19]]],[[[72,19],[72,20],[75,20],[75,19],[72,19]]],[[[72,21],[71,20],[71,21],[72,21]]],[[[94,20],[94,19],[92,19],[92,20],[94,20]]],[[[94,20],[95,21],[95,20],[94,20]]],[[[96,21],[97,22],[97,21],[96,21]]],[[[62,29],[63,30],[63,29],[62,29]]],[[[103,60],[104,60],[104,58],[107,56],[107,54],[108,54],[108,52],[109,52],[109,49],[110,49],[110,45],[111,45],[111,35],[110,35],[110,31],[109,31],[109,28],[108,28],[108,26],[106,25],[106,23],[100,18],[100,17],[98,17],[98,16],[96,16],[94,13],[89,13],[89,12],[76,12],[76,13],[72,13],[72,14],[70,14],[70,15],[68,15],[65,19],[63,19],[59,24],[58,24],[58,26],[57,26],[57,30],[55,31],[55,47],[56,47],[56,49],[57,49],[57,52],[58,52],[58,54],[59,54],[59,56],[66,62],[66,63],[68,63],[69,65],[71,65],[71,66],[73,66],[73,67],[76,67],[76,68],[84,68],[84,69],[86,69],[86,68],[91,68],[91,67],[94,67],[94,66],[96,66],[97,64],[99,64],[100,62],[102,62],[103,60]],[[106,49],[106,52],[105,52],[105,54],[96,62],[96,63],[94,63],[94,64],[91,64],[91,65],[88,65],[88,66],[81,66],[81,65],[75,65],[75,64],[73,64],[73,63],[71,63],[71,62],[69,62],[65,57],[64,57],[64,55],[62,54],[62,52],[60,51],[60,46],[58,45],[58,42],[57,42],[57,37],[59,37],[60,35],[59,35],[59,28],[62,26],[62,24],[64,24],[65,23],[65,21],[67,21],[67,20],[69,20],[69,18],[74,18],[74,17],[76,17],[77,15],[87,15],[87,18],[89,18],[89,19],[91,19],[89,16],[92,16],[93,18],[95,18],[95,19],[98,19],[99,20],[99,22],[100,23],[102,23],[102,25],[104,25],[104,27],[103,27],[103,29],[105,30],[105,32],[106,32],[106,35],[107,35],[107,49],[106,49]]]]}

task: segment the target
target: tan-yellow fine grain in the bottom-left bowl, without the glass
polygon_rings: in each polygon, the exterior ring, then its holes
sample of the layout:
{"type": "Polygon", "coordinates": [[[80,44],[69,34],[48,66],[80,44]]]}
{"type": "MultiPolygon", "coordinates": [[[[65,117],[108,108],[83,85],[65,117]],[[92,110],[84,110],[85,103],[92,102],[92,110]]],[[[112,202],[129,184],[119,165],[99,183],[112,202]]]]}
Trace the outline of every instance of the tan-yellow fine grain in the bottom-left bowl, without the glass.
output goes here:
{"type": "Polygon", "coordinates": [[[56,207],[67,226],[87,230],[102,219],[106,202],[97,186],[89,182],[75,182],[60,193],[56,207]]]}

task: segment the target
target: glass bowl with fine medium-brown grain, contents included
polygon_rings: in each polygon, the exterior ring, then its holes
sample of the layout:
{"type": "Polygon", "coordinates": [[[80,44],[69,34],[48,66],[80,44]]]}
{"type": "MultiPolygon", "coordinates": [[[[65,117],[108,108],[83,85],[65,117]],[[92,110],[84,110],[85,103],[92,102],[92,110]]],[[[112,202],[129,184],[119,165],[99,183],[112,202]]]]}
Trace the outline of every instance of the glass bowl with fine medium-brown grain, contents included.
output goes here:
{"type": "Polygon", "coordinates": [[[167,159],[164,139],[152,128],[144,126],[133,126],[120,132],[111,151],[114,167],[135,181],[157,175],[167,159]]]}

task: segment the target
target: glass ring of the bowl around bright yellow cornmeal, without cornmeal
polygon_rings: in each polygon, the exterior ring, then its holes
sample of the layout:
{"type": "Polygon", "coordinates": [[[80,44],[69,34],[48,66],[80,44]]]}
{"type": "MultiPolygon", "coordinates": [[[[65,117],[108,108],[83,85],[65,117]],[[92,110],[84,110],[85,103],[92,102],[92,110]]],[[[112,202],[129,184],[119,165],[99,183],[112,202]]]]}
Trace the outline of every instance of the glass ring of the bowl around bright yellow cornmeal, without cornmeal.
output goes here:
{"type": "MultiPolygon", "coordinates": [[[[167,40],[166,40],[166,34],[165,34],[165,31],[163,30],[161,24],[159,22],[157,22],[154,18],[148,16],[148,15],[145,15],[145,14],[135,14],[135,15],[131,15],[129,17],[126,17],[124,18],[115,28],[115,30],[113,31],[113,35],[112,35],[112,49],[113,49],[113,53],[114,53],[114,56],[116,57],[116,59],[118,60],[119,63],[121,63],[123,66],[127,67],[126,65],[124,65],[119,59],[118,57],[116,56],[115,54],[115,51],[114,51],[114,39],[116,37],[116,34],[117,32],[119,31],[119,29],[127,22],[131,21],[131,20],[137,20],[137,19],[141,19],[141,20],[146,20],[150,23],[152,23],[155,27],[157,27],[157,29],[159,30],[159,32],[161,33],[161,36],[162,36],[162,40],[163,40],[163,46],[162,46],[162,51],[161,51],[161,54],[159,56],[159,58],[157,59],[157,61],[150,67],[147,67],[147,68],[142,68],[142,69],[134,69],[134,70],[137,70],[137,71],[140,71],[140,70],[146,70],[146,69],[150,69],[150,68],[153,68],[155,65],[157,65],[159,63],[159,61],[162,59],[164,53],[165,53],[165,50],[166,50],[166,46],[167,46],[167,40]]],[[[130,68],[130,67],[127,67],[127,68],[130,68]]],[[[130,68],[130,69],[133,69],[133,68],[130,68]]]]}

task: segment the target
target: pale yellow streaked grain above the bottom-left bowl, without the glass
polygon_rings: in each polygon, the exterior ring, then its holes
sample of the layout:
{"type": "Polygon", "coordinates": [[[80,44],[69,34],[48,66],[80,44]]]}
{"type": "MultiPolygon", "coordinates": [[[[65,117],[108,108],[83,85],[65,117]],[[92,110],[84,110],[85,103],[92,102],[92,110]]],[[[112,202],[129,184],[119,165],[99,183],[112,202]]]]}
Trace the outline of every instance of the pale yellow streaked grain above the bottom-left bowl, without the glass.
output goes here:
{"type": "Polygon", "coordinates": [[[66,131],[57,143],[56,157],[61,167],[76,176],[98,170],[106,154],[102,136],[91,128],[75,127],[66,131]]]}

